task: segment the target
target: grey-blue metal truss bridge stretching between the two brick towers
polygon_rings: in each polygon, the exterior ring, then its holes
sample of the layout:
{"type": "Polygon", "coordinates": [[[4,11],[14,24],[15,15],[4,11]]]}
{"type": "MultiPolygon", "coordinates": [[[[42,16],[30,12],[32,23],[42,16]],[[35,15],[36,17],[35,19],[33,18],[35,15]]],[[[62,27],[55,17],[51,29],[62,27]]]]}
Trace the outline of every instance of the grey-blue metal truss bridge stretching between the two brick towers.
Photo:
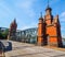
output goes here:
{"type": "MultiPolygon", "coordinates": [[[[5,30],[9,30],[9,29],[0,27],[0,32],[4,32],[5,30]]],[[[15,41],[36,44],[37,43],[37,27],[27,29],[27,30],[23,30],[23,31],[16,30],[15,41]]],[[[63,42],[65,43],[65,38],[63,38],[63,42]]]]}

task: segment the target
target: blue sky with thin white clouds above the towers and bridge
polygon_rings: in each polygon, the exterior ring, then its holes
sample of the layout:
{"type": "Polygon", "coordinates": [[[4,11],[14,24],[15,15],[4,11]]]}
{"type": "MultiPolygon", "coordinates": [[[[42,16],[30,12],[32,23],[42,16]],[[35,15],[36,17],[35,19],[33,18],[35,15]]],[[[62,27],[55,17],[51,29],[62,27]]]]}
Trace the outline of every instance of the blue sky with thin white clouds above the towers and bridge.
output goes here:
{"type": "MultiPolygon", "coordinates": [[[[10,27],[16,19],[17,29],[37,27],[40,12],[46,14],[48,0],[0,0],[0,27],[10,27]]],[[[50,0],[52,14],[58,14],[62,36],[65,37],[65,0],[50,0]]]]}

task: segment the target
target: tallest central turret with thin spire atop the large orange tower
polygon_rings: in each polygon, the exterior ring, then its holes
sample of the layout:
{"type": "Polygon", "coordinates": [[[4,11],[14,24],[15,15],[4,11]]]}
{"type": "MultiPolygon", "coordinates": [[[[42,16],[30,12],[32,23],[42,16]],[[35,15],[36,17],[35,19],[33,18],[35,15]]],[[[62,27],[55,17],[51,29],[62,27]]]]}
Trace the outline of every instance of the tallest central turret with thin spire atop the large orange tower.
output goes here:
{"type": "Polygon", "coordinates": [[[47,25],[51,25],[52,24],[53,15],[52,15],[52,9],[49,5],[49,0],[48,0],[48,7],[46,9],[44,19],[46,19],[47,25]]]}

